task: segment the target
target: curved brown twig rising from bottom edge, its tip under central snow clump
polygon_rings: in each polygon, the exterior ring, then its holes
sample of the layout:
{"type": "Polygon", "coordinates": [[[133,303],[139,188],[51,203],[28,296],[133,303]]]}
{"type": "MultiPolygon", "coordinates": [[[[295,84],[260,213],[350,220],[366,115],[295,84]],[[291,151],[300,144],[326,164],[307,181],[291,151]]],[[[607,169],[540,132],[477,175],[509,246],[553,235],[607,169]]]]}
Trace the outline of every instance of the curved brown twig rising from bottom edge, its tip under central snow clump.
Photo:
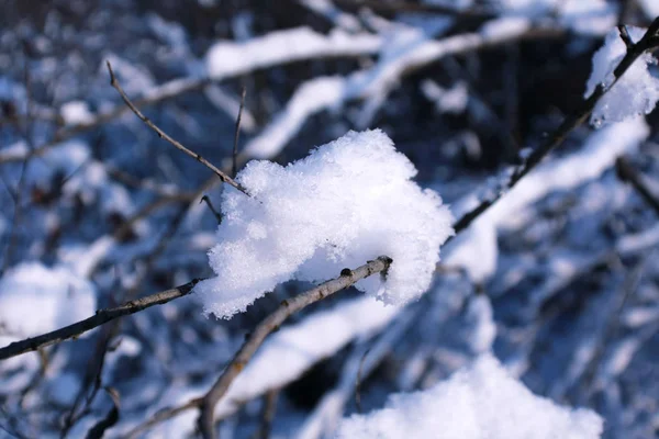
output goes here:
{"type": "Polygon", "coordinates": [[[368,278],[371,274],[386,273],[391,262],[391,258],[381,256],[376,260],[368,261],[366,264],[355,270],[344,269],[338,278],[327,281],[290,300],[283,301],[272,314],[258,324],[241,350],[236,352],[231,363],[224,369],[224,372],[222,372],[213,386],[203,396],[203,401],[201,403],[201,413],[198,420],[201,435],[205,439],[215,438],[213,419],[215,405],[222,398],[222,396],[224,396],[231,383],[236,379],[236,376],[238,376],[241,371],[245,368],[247,362],[252,359],[254,353],[263,345],[264,340],[270,333],[279,328],[281,324],[286,322],[286,319],[292,314],[305,308],[306,306],[322,301],[323,299],[340,290],[345,290],[359,280],[368,278]]]}

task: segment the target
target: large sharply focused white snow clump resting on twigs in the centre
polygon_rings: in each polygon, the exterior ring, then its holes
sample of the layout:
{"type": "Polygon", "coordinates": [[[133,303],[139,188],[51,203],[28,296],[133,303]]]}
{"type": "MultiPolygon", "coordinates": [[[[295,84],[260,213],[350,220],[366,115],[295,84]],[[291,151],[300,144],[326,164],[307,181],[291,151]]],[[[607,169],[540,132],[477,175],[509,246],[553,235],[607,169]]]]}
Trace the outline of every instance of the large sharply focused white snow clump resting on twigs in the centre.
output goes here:
{"type": "Polygon", "coordinates": [[[429,286],[453,217],[439,195],[380,131],[350,132],[281,167],[252,161],[222,199],[224,221],[209,254],[216,278],[196,288],[204,311],[228,318],[290,279],[327,280],[387,255],[387,281],[356,286],[389,304],[429,286]]]}

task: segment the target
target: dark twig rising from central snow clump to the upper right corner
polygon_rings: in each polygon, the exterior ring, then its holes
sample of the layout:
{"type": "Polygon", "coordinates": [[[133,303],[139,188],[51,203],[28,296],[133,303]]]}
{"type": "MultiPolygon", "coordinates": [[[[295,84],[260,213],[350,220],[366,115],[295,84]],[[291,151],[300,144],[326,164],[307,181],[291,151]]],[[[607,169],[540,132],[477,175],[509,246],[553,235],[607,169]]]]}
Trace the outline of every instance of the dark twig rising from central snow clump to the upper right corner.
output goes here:
{"type": "MultiPolygon", "coordinates": [[[[621,35],[621,38],[624,40],[624,36],[621,35]]],[[[505,192],[510,191],[526,176],[544,158],[557,146],[561,145],[568,135],[577,128],[579,125],[583,124],[585,120],[593,112],[597,101],[608,91],[612,87],[615,87],[618,79],[627,71],[627,69],[634,64],[634,61],[640,57],[645,52],[657,48],[659,46],[659,18],[657,18],[648,31],[645,33],[643,38],[638,43],[635,43],[633,47],[627,49],[625,57],[617,65],[615,70],[613,71],[614,81],[608,87],[604,87],[603,85],[599,85],[595,91],[583,102],[581,109],[574,112],[571,116],[567,117],[563,123],[554,132],[554,134],[549,137],[547,142],[545,142],[540,147],[535,149],[530,156],[526,160],[522,162],[518,167],[513,170],[513,173],[505,184],[504,190],[499,191],[496,195],[492,199],[483,200],[477,207],[472,211],[462,215],[460,219],[458,219],[454,229],[456,230],[456,235],[461,230],[466,229],[471,225],[471,223],[478,218],[481,214],[483,214],[488,209],[490,209],[496,201],[499,201],[505,192]]],[[[455,235],[454,235],[455,236],[455,235]]],[[[451,238],[449,238],[450,240],[451,238]]]]}

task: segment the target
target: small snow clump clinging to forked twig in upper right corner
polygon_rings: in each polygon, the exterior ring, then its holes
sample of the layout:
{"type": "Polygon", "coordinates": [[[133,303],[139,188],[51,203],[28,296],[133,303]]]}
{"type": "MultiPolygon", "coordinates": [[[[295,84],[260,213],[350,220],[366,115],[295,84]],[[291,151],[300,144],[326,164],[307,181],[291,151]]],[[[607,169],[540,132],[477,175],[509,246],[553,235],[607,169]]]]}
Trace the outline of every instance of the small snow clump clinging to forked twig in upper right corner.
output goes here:
{"type": "MultiPolygon", "coordinates": [[[[629,36],[638,42],[645,30],[627,26],[629,36]]],[[[604,41],[604,45],[593,55],[593,70],[588,80],[585,97],[590,97],[599,85],[607,88],[615,80],[614,69],[626,54],[626,46],[617,29],[612,30],[604,41]]],[[[625,75],[600,99],[591,123],[595,126],[621,122],[637,114],[648,114],[659,100],[659,79],[655,78],[649,65],[656,64],[656,58],[643,54],[625,72],[625,75]]]]}

